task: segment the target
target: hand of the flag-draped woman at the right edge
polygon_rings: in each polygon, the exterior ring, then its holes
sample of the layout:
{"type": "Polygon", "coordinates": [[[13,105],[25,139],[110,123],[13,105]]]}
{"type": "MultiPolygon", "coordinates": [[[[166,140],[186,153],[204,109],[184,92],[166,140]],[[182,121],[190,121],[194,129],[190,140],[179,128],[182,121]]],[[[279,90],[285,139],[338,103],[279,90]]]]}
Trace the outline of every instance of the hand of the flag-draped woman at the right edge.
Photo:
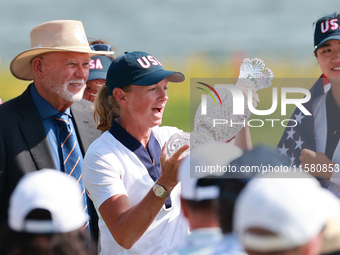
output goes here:
{"type": "Polygon", "coordinates": [[[334,162],[332,162],[324,153],[315,152],[309,149],[303,149],[299,157],[302,168],[315,177],[325,177],[330,179],[333,174],[334,162]],[[327,171],[322,171],[326,165],[327,171]],[[320,169],[321,171],[310,171],[320,169]]]}

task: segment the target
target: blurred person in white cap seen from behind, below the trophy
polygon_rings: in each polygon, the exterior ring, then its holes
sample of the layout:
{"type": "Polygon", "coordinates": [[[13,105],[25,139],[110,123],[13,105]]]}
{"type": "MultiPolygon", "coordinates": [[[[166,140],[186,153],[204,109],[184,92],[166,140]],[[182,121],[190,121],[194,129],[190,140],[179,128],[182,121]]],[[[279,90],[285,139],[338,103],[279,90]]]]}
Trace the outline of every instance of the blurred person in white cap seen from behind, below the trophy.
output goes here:
{"type": "Polygon", "coordinates": [[[219,196],[218,178],[214,173],[190,171],[195,166],[227,166],[242,155],[237,146],[226,143],[208,143],[193,150],[181,163],[178,180],[181,183],[181,206],[192,231],[183,246],[168,253],[212,254],[216,243],[222,239],[215,203],[219,196]],[[193,175],[193,176],[190,176],[193,175]],[[215,178],[211,178],[215,177],[215,178]]]}

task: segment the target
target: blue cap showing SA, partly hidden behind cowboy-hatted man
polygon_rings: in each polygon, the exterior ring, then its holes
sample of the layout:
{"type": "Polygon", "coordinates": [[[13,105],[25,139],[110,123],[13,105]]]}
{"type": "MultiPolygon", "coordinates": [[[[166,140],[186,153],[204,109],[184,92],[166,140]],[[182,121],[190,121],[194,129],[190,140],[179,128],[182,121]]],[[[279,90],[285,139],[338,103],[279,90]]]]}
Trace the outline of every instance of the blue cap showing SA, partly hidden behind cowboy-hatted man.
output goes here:
{"type": "Polygon", "coordinates": [[[106,79],[107,70],[110,67],[112,58],[97,55],[91,58],[90,61],[90,73],[87,81],[96,79],[106,79]]]}

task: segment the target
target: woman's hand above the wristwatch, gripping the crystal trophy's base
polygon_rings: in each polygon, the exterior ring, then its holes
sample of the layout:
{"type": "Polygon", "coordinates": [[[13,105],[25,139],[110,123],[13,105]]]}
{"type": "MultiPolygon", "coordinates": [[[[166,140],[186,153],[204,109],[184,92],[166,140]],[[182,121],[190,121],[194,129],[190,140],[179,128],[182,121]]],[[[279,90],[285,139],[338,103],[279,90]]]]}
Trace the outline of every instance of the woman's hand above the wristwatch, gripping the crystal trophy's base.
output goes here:
{"type": "Polygon", "coordinates": [[[161,176],[158,178],[157,183],[162,185],[168,192],[177,185],[177,173],[178,167],[182,159],[181,155],[184,151],[189,149],[189,145],[183,145],[172,156],[166,157],[165,145],[162,148],[161,155],[159,157],[161,163],[161,176]]]}

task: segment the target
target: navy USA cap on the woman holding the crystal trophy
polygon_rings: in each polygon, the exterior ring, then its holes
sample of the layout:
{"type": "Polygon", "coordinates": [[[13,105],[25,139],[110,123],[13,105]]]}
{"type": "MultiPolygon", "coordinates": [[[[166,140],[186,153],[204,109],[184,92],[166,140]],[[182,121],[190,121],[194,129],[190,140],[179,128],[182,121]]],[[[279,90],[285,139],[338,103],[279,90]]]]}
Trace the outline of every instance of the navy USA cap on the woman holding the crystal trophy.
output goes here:
{"type": "Polygon", "coordinates": [[[167,78],[169,82],[182,82],[185,77],[180,72],[166,71],[152,55],[142,51],[125,52],[115,58],[107,72],[106,86],[109,95],[115,88],[129,84],[149,86],[167,78]]]}

